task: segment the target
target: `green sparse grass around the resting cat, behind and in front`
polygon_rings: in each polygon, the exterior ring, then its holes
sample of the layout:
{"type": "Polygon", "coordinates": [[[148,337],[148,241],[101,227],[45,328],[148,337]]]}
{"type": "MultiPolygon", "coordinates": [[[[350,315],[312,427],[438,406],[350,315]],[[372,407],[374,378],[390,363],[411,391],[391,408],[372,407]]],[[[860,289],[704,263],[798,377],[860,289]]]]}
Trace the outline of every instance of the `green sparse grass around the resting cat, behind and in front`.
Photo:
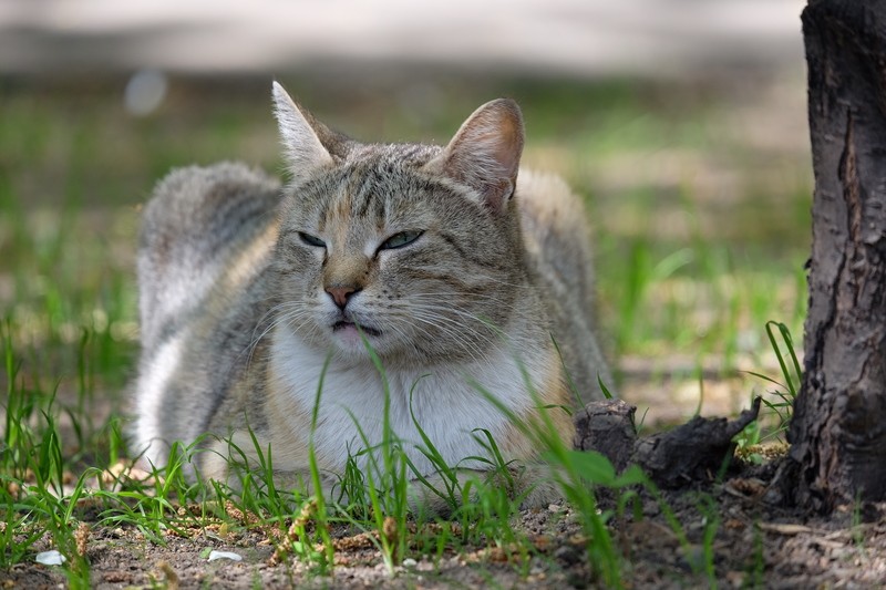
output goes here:
{"type": "MultiPolygon", "coordinates": [[[[365,532],[389,571],[409,558],[440,562],[481,547],[508,556],[525,576],[539,551],[512,526],[516,505],[503,493],[507,485],[460,478],[437,460],[443,476],[433,484],[454,514],[449,520],[410,516],[412,477],[396,433],[388,432],[372,469],[346,474],[349,506],[275,489],[268,477],[246,477],[241,494],[189,484],[181,470],[188,449],[143,484],[102,477],[128,456],[122,408],[136,358],[138,204],[173,166],[245,158],[279,168],[265,81],[175,82],[163,110],[142,120],[123,111],[117,84],[0,81],[0,569],[56,548],[69,558],[62,571],[70,586],[89,587],[90,560],[81,550],[89,527],[131,527],[157,544],[172,532],[224,527],[260,531],[281,560],[296,556],[322,576],[336,567],[339,541],[330,531],[346,527],[365,532]],[[459,508],[464,494],[476,501],[459,508]]],[[[774,380],[779,393],[770,408],[786,417],[799,383],[800,343],[790,334],[802,333],[805,314],[805,145],[745,141],[729,117],[751,97],[734,89],[496,84],[435,83],[422,101],[371,90],[346,97],[322,84],[292,90],[357,137],[439,142],[481,102],[515,96],[529,133],[527,164],[564,174],[588,197],[608,349],[618,359],[653,360],[641,376],[621,372],[614,389],[642,403],[642,386],[669,389],[701,376],[707,403],[712,383],[750,370],[760,376],[731,382],[732,395],[744,401],[759,393],[760,377],[774,380]],[[712,376],[708,365],[715,366],[712,376]]],[[[663,402],[647,403],[655,422],[663,402]]],[[[687,415],[696,404],[686,405],[687,415]]],[[[564,448],[549,424],[524,427],[558,467],[557,483],[593,540],[586,550],[595,575],[619,586],[628,565],[610,522],[630,510],[631,486],[649,484],[637,472],[616,476],[602,457],[564,448]],[[600,509],[599,489],[614,490],[615,510],[600,509]]],[[[476,435],[507,482],[495,441],[476,435]]],[[[756,442],[765,435],[748,436],[756,442]]],[[[431,441],[424,448],[439,459],[431,441]]],[[[257,474],[267,474],[272,456],[258,442],[256,451],[257,474]]],[[[316,469],[313,476],[319,489],[316,469]]],[[[700,510],[714,514],[704,500],[700,510]]],[[[689,550],[681,524],[671,527],[689,550]]],[[[709,519],[697,563],[709,579],[717,530],[709,519]]]]}

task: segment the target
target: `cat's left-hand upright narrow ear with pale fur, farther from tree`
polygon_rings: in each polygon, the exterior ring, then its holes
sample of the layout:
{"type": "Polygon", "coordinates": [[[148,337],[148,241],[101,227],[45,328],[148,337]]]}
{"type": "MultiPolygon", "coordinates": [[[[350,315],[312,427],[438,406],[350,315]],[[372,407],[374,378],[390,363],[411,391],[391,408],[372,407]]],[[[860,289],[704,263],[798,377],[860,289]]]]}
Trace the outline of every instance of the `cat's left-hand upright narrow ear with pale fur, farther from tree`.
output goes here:
{"type": "Polygon", "coordinates": [[[320,135],[330,132],[302,111],[277,81],[274,82],[274,114],[280,128],[287,164],[296,183],[307,179],[318,168],[334,163],[320,139],[320,135]],[[322,128],[316,128],[318,126],[322,128]]]}

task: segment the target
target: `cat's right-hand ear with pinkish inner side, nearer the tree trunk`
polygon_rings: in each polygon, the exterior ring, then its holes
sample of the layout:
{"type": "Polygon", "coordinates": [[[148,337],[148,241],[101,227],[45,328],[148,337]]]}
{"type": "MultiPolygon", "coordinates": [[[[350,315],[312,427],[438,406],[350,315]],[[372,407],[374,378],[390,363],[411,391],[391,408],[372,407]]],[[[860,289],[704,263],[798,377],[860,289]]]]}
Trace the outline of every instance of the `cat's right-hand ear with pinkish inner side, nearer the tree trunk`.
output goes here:
{"type": "Polygon", "coordinates": [[[519,106],[509,99],[498,99],[474,111],[425,169],[464,183],[498,213],[514,194],[523,142],[519,106]]]}

